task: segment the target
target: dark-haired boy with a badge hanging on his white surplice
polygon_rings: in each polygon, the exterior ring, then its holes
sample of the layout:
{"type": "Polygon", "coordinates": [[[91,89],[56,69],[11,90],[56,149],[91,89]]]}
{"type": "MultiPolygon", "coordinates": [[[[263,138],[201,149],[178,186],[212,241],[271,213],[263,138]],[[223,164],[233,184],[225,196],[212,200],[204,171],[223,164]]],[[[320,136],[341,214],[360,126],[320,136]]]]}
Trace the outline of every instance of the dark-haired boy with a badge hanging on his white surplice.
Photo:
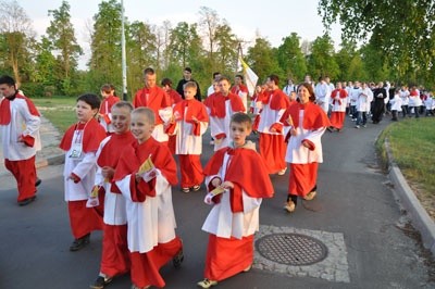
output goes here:
{"type": "Polygon", "coordinates": [[[65,151],[65,201],[75,238],[70,251],[86,247],[90,233],[103,226],[97,208],[86,208],[96,176],[96,152],[105,138],[104,128],[96,120],[99,106],[100,99],[96,95],[79,96],[75,106],[78,122],[66,130],[59,144],[65,151]]]}

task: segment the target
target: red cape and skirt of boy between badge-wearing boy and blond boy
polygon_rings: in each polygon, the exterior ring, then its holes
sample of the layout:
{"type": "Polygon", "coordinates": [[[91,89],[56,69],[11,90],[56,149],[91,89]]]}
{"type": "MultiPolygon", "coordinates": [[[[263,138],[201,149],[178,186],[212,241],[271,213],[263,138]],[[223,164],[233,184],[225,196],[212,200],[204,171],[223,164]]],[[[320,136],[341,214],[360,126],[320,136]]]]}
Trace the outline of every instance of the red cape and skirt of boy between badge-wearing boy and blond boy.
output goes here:
{"type": "MultiPolygon", "coordinates": [[[[113,134],[110,140],[101,149],[97,159],[97,164],[100,167],[109,166],[116,168],[119,160],[122,155],[123,148],[135,142],[130,131],[119,135],[113,134]]],[[[113,179],[110,179],[111,191],[119,192],[113,179]]],[[[125,205],[125,203],[123,203],[125,205]]],[[[104,208],[104,214],[115,215],[116,209],[104,208]],[[108,212],[109,210],[109,212],[108,212]]],[[[129,271],[129,253],[127,246],[127,225],[109,225],[104,224],[102,238],[102,253],[100,272],[107,276],[116,276],[125,274],[129,271]]]]}

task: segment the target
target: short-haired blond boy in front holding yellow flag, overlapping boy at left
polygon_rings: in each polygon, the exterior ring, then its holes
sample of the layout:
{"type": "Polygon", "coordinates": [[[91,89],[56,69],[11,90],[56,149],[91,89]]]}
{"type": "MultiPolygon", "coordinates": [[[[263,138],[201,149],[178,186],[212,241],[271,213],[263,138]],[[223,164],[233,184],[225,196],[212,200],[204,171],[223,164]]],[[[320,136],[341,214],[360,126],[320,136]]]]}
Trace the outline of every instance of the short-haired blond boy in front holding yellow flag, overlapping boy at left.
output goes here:
{"type": "Polygon", "coordinates": [[[152,110],[134,110],[130,127],[137,141],[124,149],[114,180],[126,199],[132,288],[161,288],[160,267],[171,259],[179,267],[184,259],[172,205],[176,164],[169,148],[151,136],[152,110]]]}

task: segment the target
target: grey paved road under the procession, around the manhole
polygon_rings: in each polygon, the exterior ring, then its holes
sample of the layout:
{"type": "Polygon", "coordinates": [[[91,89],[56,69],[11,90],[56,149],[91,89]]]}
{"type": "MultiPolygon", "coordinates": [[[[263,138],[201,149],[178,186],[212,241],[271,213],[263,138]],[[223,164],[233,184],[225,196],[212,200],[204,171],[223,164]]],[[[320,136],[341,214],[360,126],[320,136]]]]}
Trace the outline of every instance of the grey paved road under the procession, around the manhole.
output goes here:
{"type": "MultiPolygon", "coordinates": [[[[313,212],[298,205],[289,215],[282,206],[287,178],[272,176],[276,194],[261,208],[258,237],[297,233],[322,241],[325,260],[308,266],[285,266],[256,252],[254,267],[220,282],[220,288],[435,288],[420,246],[400,229],[406,222],[377,167],[374,141],[386,122],[355,129],[351,122],[340,134],[323,137],[325,162],[320,168],[319,198],[313,212]]],[[[208,138],[206,138],[208,143],[208,138]]],[[[211,154],[204,144],[203,162],[211,154]]],[[[0,288],[87,288],[96,278],[101,234],[91,236],[88,248],[70,252],[72,241],[63,201],[62,165],[39,169],[44,179],[38,200],[16,205],[13,180],[0,177],[0,288]]],[[[196,288],[202,278],[207,234],[200,230],[209,212],[203,190],[182,193],[173,200],[184,239],[185,262],[181,269],[163,267],[167,288],[196,288]]],[[[303,246],[303,243],[302,243],[303,246]]],[[[285,253],[285,252],[284,252],[285,253]]],[[[129,288],[128,276],[109,288],[129,288]]],[[[217,287],[217,288],[219,288],[217,287]]]]}

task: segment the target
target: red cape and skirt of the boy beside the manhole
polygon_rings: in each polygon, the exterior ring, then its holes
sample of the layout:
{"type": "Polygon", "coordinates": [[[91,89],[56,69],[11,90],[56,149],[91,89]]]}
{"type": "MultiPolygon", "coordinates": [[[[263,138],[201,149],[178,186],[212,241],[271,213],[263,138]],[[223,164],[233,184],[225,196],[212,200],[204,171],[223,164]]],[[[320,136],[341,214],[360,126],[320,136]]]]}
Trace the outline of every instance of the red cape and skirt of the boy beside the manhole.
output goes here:
{"type": "MultiPolygon", "coordinates": [[[[229,190],[232,213],[244,212],[243,191],[251,198],[272,198],[274,189],[261,156],[252,149],[224,148],[215,152],[204,167],[207,176],[219,173],[225,153],[232,158],[226,168],[225,179],[234,184],[229,190]],[[241,168],[243,167],[243,168],[241,168]]],[[[224,181],[223,180],[223,181],[224,181]]],[[[209,184],[209,190],[213,187],[209,184]]],[[[222,194],[213,198],[220,202],[222,194]]],[[[232,277],[253,262],[253,234],[241,239],[222,238],[210,234],[207,247],[204,277],[210,280],[223,280],[232,277]]]]}

